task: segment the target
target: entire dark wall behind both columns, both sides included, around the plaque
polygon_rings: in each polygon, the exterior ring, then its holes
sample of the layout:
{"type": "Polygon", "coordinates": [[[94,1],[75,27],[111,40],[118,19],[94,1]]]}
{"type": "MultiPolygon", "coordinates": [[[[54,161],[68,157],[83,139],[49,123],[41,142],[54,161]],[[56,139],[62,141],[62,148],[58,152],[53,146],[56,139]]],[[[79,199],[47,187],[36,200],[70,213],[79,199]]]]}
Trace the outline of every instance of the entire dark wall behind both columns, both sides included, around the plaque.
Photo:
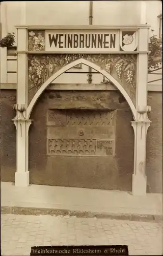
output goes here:
{"type": "MultiPolygon", "coordinates": [[[[86,92],[85,92],[86,93],[86,92]]],[[[63,161],[60,157],[47,155],[47,110],[59,102],[61,94],[45,91],[39,98],[31,115],[34,119],[29,131],[29,170],[33,184],[90,187],[102,189],[131,190],[133,172],[134,135],[130,125],[132,115],[118,91],[112,93],[108,107],[116,108],[115,157],[98,157],[89,168],[90,157],[82,161],[72,157],[63,161]],[[56,95],[56,96],[55,96],[56,95]],[[114,101],[113,101],[114,99],[114,101]],[[113,102],[114,105],[113,105],[113,102]],[[111,104],[112,103],[112,104],[111,104]]],[[[1,180],[14,182],[16,171],[16,128],[12,118],[16,113],[15,90],[1,90],[1,180]]],[[[151,105],[147,132],[147,191],[162,192],[162,93],[149,92],[151,105]]],[[[92,159],[92,157],[91,157],[92,159]]]]}

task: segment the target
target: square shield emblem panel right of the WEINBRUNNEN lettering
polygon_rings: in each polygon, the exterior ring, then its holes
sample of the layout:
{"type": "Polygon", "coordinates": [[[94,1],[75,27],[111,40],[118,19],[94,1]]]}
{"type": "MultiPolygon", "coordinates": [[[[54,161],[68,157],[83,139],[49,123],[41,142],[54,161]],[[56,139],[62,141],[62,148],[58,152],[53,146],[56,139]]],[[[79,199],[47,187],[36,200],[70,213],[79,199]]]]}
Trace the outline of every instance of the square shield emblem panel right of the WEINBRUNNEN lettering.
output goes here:
{"type": "Polygon", "coordinates": [[[120,51],[133,52],[137,50],[137,32],[121,31],[120,33],[120,51]]]}

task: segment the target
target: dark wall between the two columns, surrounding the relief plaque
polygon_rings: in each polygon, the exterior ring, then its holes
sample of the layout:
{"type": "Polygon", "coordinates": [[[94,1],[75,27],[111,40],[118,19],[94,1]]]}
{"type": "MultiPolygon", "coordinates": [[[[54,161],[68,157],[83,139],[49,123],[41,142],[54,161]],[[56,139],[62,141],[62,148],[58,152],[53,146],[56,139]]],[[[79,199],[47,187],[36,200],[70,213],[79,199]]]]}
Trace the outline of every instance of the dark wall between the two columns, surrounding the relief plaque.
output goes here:
{"type": "MultiPolygon", "coordinates": [[[[103,101],[100,105],[116,110],[116,139],[115,157],[76,157],[76,156],[48,156],[47,155],[47,110],[61,108],[61,102],[68,108],[74,106],[70,95],[73,92],[50,92],[42,94],[35,106],[31,119],[35,121],[30,127],[29,140],[29,170],[30,181],[34,184],[85,187],[99,189],[131,190],[133,170],[134,135],[130,125],[131,111],[118,91],[113,92],[76,92],[80,99],[83,95],[96,95],[103,101]],[[66,96],[67,95],[67,96],[66,96]],[[62,100],[63,98],[66,100],[62,100]],[[105,99],[107,99],[107,104],[105,99]]],[[[92,97],[92,98],[93,98],[92,97]]],[[[71,97],[73,98],[73,97],[71,97]]],[[[93,108],[93,103],[84,104],[93,108]]],[[[82,104],[82,100],[80,100],[82,104]]],[[[94,106],[97,109],[97,101],[94,106]]],[[[76,107],[76,106],[75,106],[76,107]]],[[[97,110],[98,111],[98,110],[97,110]]]]}

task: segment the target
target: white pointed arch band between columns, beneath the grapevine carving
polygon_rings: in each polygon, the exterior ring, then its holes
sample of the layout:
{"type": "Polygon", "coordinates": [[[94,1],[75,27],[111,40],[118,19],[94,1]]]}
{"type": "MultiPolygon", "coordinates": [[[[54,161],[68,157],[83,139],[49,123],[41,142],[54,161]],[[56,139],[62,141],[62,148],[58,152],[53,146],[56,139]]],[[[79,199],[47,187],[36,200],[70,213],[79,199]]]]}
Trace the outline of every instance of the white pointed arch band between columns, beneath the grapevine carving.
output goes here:
{"type": "Polygon", "coordinates": [[[91,67],[92,69],[96,70],[97,72],[99,72],[100,74],[102,74],[103,76],[105,76],[108,80],[110,80],[114,86],[121,92],[121,94],[123,95],[123,97],[126,99],[134,120],[136,120],[137,118],[137,110],[131,100],[131,98],[129,97],[129,95],[127,94],[127,92],[125,91],[125,89],[121,86],[121,84],[110,74],[108,74],[105,70],[101,69],[99,66],[97,66],[96,64],[90,62],[89,60],[86,60],[84,58],[80,58],[77,59],[71,63],[69,63],[68,65],[62,67],[59,71],[57,71],[55,74],[53,74],[51,77],[49,77],[46,82],[44,82],[42,84],[42,86],[39,88],[39,90],[36,92],[36,94],[34,95],[34,97],[32,98],[28,108],[26,109],[26,118],[29,119],[31,112],[34,108],[34,105],[36,104],[38,98],[41,96],[41,94],[43,93],[43,91],[50,85],[50,83],[55,80],[57,77],[59,77],[60,75],[62,75],[64,72],[66,72],[67,70],[73,68],[74,66],[83,63],[86,66],[91,67]]]}

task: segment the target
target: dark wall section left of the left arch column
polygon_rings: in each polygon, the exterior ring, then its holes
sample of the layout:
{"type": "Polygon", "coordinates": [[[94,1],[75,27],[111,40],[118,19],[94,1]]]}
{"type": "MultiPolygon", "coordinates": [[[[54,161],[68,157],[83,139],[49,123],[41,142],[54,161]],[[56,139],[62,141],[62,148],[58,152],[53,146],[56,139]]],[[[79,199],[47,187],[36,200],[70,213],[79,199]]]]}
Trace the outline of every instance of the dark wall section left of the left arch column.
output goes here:
{"type": "Polygon", "coordinates": [[[1,181],[14,182],[16,171],[16,90],[1,90],[1,181]]]}

